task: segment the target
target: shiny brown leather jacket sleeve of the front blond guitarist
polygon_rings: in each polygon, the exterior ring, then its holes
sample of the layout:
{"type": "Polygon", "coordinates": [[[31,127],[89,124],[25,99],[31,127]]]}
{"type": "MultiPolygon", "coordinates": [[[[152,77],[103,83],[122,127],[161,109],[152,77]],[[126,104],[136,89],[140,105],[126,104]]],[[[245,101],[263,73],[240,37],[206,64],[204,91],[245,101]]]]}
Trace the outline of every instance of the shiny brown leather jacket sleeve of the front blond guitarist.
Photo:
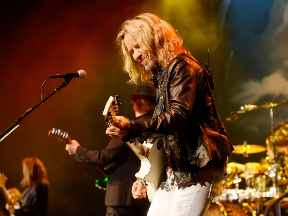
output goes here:
{"type": "Polygon", "coordinates": [[[201,72],[200,70],[202,70],[201,67],[196,67],[195,70],[186,61],[179,62],[171,74],[168,74],[167,93],[170,107],[154,119],[131,120],[130,140],[162,137],[184,128],[188,124],[195,101],[197,74],[201,72]],[[133,137],[134,134],[140,137],[133,137]]]}

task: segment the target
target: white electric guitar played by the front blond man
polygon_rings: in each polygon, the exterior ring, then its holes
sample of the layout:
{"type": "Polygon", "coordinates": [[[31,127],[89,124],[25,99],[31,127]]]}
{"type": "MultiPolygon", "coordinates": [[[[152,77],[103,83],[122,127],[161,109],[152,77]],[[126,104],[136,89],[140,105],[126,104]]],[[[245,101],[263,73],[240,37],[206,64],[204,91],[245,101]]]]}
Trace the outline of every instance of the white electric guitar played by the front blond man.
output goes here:
{"type": "MultiPolygon", "coordinates": [[[[119,120],[115,116],[119,112],[118,107],[120,105],[117,95],[115,98],[110,96],[103,111],[108,127],[119,124],[119,120]]],[[[147,196],[149,201],[152,202],[156,191],[162,185],[163,171],[165,169],[166,154],[163,147],[163,137],[146,140],[143,144],[138,141],[127,142],[127,145],[141,161],[140,170],[135,176],[137,179],[146,182],[147,196]]]]}

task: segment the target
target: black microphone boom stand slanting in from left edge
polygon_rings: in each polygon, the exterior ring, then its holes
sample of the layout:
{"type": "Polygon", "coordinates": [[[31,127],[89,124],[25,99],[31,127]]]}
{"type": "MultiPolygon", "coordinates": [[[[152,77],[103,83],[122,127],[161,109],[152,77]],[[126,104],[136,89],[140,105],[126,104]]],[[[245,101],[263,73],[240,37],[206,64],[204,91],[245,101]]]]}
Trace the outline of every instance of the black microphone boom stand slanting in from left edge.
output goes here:
{"type": "Polygon", "coordinates": [[[10,133],[12,133],[16,128],[19,127],[19,123],[24,119],[26,116],[28,116],[30,113],[32,113],[33,110],[35,110],[37,107],[40,107],[48,98],[50,98],[52,95],[54,95],[57,91],[60,91],[61,88],[67,86],[72,78],[65,78],[65,81],[62,82],[61,85],[58,86],[50,95],[48,95],[46,98],[44,98],[43,101],[41,101],[39,104],[37,104],[35,107],[30,108],[27,110],[24,115],[21,118],[16,119],[16,122],[14,122],[12,125],[9,126],[5,131],[3,131],[0,134],[0,142],[4,140],[10,133]]]}

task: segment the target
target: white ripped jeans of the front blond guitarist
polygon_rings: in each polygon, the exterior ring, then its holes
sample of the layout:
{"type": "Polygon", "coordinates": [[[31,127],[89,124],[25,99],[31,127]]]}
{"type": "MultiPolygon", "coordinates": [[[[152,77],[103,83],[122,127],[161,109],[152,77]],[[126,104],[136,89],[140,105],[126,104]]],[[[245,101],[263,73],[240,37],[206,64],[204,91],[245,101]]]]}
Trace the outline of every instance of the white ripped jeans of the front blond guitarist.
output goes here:
{"type": "Polygon", "coordinates": [[[202,216],[205,215],[223,182],[224,173],[199,170],[189,187],[166,191],[159,188],[147,216],[202,216]]]}

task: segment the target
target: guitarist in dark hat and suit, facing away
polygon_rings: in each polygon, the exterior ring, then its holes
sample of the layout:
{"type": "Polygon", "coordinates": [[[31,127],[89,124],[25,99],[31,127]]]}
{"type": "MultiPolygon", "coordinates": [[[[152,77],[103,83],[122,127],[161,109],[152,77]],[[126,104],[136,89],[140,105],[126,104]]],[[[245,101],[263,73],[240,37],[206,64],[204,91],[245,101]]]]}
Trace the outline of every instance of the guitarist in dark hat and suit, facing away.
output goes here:
{"type": "MultiPolygon", "coordinates": [[[[155,88],[141,85],[131,95],[135,120],[151,118],[155,110],[155,88]]],[[[131,195],[135,173],[140,169],[140,160],[120,139],[112,138],[105,149],[88,150],[76,141],[66,145],[75,160],[96,166],[108,166],[108,181],[105,196],[106,215],[146,215],[150,206],[148,199],[136,200],[131,195]]]]}

